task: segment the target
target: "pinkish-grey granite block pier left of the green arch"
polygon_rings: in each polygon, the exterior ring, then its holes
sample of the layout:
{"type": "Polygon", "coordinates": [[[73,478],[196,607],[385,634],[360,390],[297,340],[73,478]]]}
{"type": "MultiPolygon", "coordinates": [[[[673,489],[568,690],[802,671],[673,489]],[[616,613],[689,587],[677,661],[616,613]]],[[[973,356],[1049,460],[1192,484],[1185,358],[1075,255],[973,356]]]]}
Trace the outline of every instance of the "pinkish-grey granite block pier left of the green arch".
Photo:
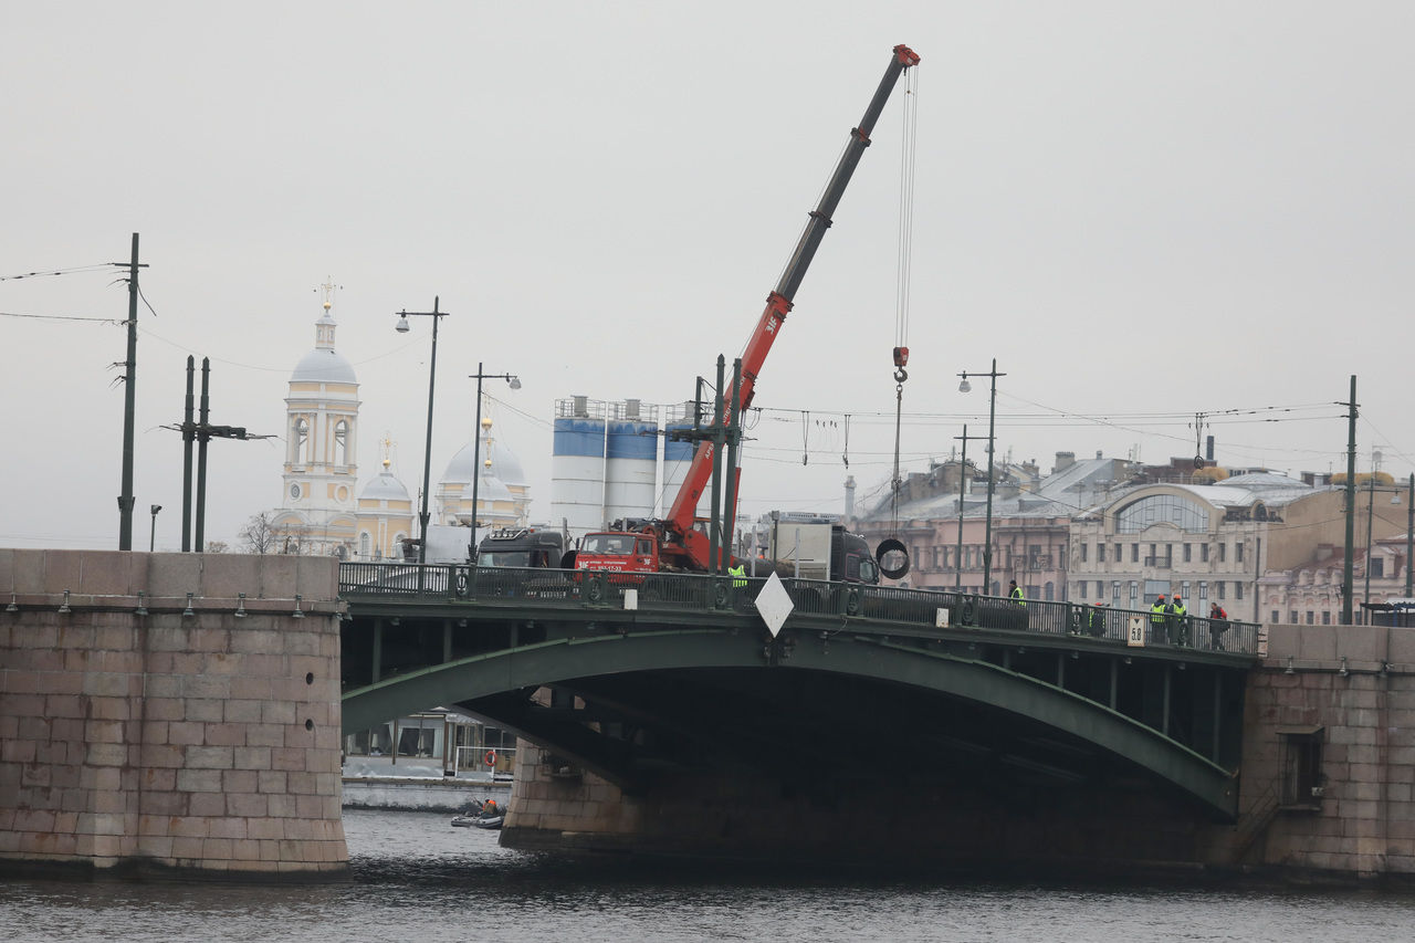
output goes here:
{"type": "Polygon", "coordinates": [[[324,878],[337,561],[0,549],[0,869],[324,878]]]}

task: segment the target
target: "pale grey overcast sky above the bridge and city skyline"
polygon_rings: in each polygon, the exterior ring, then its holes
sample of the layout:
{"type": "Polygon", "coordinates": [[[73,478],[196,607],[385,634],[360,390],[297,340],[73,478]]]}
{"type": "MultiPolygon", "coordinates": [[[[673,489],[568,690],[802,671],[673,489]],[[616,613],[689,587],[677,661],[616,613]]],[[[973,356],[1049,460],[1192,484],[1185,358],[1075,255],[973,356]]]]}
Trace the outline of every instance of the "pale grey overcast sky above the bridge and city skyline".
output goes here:
{"type": "MultiPolygon", "coordinates": [[[[999,455],[1162,462],[1193,452],[1186,415],[1326,404],[1208,432],[1227,464],[1343,470],[1330,404],[1358,374],[1360,464],[1381,447],[1402,477],[1412,41],[1408,3],[7,0],[0,276],[125,261],[142,234],[134,547],[154,503],[158,548],[180,544],[181,443],[160,426],[187,354],[214,361],[214,422],[280,433],[327,276],[361,481],[385,432],[422,479],[427,319],[402,336],[393,313],[439,295],[433,476],[468,442],[483,360],[525,384],[492,387],[525,413],[498,406],[495,433],[548,517],[553,401],[681,401],[740,351],[906,42],[907,467],[962,422],[985,432],[986,381],[965,396],[955,374],[996,357],[999,455]]],[[[756,405],[812,422],[763,415],[747,513],[838,510],[848,473],[862,494],[889,477],[901,92],[761,374],[756,405]]],[[[0,312],[120,320],[113,278],[4,280],[0,312]]],[[[0,545],[116,547],[122,328],[0,331],[0,545]]],[[[282,457],[211,446],[208,538],[279,503],[282,457]]]]}

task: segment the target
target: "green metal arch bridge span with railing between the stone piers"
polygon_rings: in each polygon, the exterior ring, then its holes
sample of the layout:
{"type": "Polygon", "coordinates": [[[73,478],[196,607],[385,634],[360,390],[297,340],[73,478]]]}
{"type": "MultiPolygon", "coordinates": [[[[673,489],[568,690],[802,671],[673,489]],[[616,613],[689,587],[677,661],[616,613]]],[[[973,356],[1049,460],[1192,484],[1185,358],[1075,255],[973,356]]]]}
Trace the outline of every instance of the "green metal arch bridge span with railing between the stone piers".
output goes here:
{"type": "Polygon", "coordinates": [[[344,732],[456,705],[630,794],[903,750],[924,780],[1157,789],[1235,818],[1252,623],[785,579],[773,634],[764,583],[344,564],[344,732]]]}

